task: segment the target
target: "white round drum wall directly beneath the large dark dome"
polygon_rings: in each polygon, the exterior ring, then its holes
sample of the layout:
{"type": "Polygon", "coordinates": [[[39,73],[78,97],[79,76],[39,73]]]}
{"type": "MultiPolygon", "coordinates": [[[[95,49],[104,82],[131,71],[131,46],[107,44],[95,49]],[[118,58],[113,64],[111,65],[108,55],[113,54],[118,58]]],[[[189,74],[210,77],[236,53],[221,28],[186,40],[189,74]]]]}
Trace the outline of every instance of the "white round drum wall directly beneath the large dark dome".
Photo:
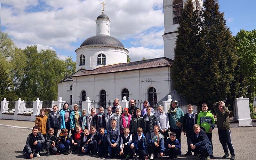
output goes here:
{"type": "Polygon", "coordinates": [[[106,65],[116,64],[116,63],[127,63],[128,52],[123,49],[118,49],[114,47],[81,47],[76,50],[76,71],[80,68],[87,70],[93,70],[105,65],[97,65],[97,57],[99,54],[105,54],[106,65]],[[79,60],[81,55],[85,56],[85,65],[79,66],[79,60]]]}

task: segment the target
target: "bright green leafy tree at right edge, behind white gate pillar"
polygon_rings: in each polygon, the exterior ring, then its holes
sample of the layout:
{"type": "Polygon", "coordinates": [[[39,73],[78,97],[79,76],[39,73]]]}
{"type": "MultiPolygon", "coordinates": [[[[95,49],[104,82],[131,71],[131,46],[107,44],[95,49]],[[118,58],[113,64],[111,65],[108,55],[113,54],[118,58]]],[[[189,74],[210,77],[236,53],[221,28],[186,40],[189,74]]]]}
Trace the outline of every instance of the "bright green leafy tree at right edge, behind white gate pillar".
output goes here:
{"type": "Polygon", "coordinates": [[[241,76],[244,78],[246,97],[251,102],[256,96],[256,30],[240,30],[236,37],[236,48],[239,57],[241,76]]]}

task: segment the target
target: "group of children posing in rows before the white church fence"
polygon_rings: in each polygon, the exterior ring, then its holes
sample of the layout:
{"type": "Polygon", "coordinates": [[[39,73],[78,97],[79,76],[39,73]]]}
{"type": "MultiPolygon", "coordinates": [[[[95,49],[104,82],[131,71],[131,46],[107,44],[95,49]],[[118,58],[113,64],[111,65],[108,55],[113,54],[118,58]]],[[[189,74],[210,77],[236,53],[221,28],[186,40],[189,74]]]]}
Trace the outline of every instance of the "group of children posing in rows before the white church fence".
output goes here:
{"type": "MultiPolygon", "coordinates": [[[[54,110],[57,112],[56,107],[53,106],[53,112],[54,110]]],[[[111,106],[107,109],[108,113],[105,115],[103,107],[99,108],[98,114],[95,114],[96,109],[92,108],[91,115],[89,115],[91,118],[89,116],[87,118],[86,110],[84,110],[79,123],[75,126],[75,132],[69,137],[68,129],[64,128],[58,138],[56,136],[60,124],[55,123],[57,120],[51,117],[52,113],[49,114],[48,119],[46,118],[49,126],[46,134],[46,124],[43,123],[45,111],[41,109],[40,118],[36,120],[38,125],[34,126],[33,132],[28,135],[23,150],[24,155],[32,158],[32,151],[35,149],[34,156],[40,157],[39,152],[42,146],[45,146],[46,156],[50,156],[50,153],[68,155],[79,151],[105,158],[109,155],[116,159],[126,157],[126,159],[137,160],[138,155],[142,159],[147,159],[148,155],[150,159],[154,159],[154,157],[162,157],[165,154],[170,159],[176,159],[177,155],[181,154],[176,133],[170,132],[169,136],[169,118],[163,106],[157,107],[156,116],[152,113],[150,106],[147,106],[144,116],[141,116],[141,110],[138,108],[133,119],[128,108],[124,108],[122,114],[120,106],[115,106],[115,113],[111,106]]],[[[205,160],[209,160],[213,150],[214,117],[205,103],[198,116],[193,112],[192,105],[188,105],[187,109],[188,113],[182,121],[182,129],[188,141],[188,152],[185,156],[192,155],[194,152],[194,155],[197,155],[196,159],[204,156],[205,160]]],[[[61,119],[61,117],[57,118],[61,119]]]]}

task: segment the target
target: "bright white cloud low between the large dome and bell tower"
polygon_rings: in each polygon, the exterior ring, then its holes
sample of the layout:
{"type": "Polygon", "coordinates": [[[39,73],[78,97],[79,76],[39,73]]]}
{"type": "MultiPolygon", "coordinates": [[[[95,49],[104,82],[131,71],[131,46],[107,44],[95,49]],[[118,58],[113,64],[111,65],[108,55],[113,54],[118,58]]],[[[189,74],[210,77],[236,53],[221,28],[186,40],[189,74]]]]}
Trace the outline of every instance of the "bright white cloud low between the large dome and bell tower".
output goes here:
{"type": "Polygon", "coordinates": [[[151,49],[144,47],[131,47],[129,50],[129,57],[131,61],[142,60],[142,57],[147,59],[164,57],[164,49],[151,49]]]}

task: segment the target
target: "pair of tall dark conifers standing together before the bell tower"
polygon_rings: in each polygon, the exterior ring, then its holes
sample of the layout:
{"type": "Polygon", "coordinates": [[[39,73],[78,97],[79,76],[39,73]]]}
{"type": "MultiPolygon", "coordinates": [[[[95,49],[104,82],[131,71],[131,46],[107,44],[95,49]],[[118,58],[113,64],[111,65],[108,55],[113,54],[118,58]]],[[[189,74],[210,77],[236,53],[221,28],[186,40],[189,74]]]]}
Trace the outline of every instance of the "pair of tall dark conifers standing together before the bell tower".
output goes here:
{"type": "Polygon", "coordinates": [[[190,3],[183,10],[174,50],[174,88],[191,103],[212,106],[231,97],[237,65],[235,40],[216,0],[204,1],[199,25],[190,3]]]}

